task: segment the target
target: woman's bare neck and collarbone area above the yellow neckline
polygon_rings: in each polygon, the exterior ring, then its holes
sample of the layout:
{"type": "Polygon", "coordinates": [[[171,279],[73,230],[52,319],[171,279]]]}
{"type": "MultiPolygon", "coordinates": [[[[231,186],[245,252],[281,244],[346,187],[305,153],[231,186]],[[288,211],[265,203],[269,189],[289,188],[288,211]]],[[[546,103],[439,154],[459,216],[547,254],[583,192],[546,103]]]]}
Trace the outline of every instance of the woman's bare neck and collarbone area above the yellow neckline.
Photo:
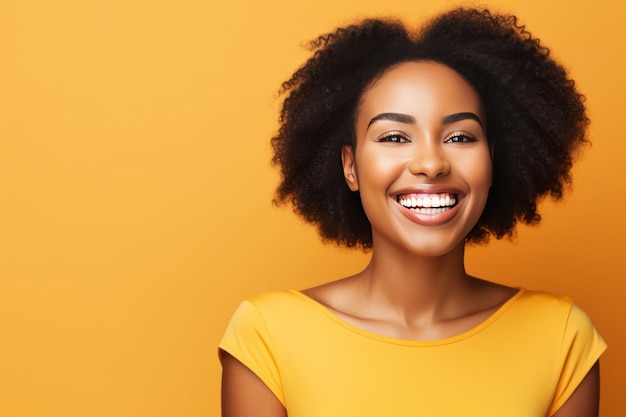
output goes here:
{"type": "Polygon", "coordinates": [[[354,326],[410,340],[461,334],[516,292],[467,275],[463,243],[435,257],[375,245],[363,271],[303,291],[354,326]]]}

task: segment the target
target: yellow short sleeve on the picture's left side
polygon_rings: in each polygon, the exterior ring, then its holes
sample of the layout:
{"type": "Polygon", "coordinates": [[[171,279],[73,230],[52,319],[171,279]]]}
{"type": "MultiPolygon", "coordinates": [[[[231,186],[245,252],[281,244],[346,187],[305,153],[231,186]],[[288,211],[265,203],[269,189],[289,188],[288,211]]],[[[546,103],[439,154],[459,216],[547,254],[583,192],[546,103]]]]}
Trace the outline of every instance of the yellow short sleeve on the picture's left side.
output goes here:
{"type": "Polygon", "coordinates": [[[241,303],[228,323],[219,348],[254,372],[285,404],[271,336],[254,304],[241,303]]]}

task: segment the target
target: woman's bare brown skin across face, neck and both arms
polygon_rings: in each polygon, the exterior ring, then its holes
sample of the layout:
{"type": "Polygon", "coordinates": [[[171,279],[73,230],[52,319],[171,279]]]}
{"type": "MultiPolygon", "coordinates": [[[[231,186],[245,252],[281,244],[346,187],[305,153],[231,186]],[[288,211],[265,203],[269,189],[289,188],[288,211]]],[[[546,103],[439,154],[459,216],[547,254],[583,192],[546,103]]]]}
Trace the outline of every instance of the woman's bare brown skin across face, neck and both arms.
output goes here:
{"type": "MultiPolygon", "coordinates": [[[[406,340],[467,332],[513,297],[517,289],[464,266],[464,238],[492,182],[484,119],[476,91],[441,64],[404,63],[378,79],[357,112],[357,145],[342,152],[346,183],[372,225],[372,258],[360,273],[303,293],[354,326],[406,340]],[[433,196],[456,203],[406,208],[433,196]]],[[[220,357],[223,417],[287,415],[252,371],[220,357]]],[[[599,386],[596,363],[554,416],[597,417],[599,386]]]]}

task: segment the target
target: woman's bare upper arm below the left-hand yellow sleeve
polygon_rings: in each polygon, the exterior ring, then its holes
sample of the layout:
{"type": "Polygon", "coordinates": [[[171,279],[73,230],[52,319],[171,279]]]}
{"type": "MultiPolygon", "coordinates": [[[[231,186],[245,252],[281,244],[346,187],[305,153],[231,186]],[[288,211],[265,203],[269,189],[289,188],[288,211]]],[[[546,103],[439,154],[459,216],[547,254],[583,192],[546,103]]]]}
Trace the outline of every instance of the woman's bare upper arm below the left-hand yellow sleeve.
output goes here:
{"type": "Polygon", "coordinates": [[[220,351],[220,359],[222,417],[287,417],[285,407],[250,369],[227,352],[220,351]]]}

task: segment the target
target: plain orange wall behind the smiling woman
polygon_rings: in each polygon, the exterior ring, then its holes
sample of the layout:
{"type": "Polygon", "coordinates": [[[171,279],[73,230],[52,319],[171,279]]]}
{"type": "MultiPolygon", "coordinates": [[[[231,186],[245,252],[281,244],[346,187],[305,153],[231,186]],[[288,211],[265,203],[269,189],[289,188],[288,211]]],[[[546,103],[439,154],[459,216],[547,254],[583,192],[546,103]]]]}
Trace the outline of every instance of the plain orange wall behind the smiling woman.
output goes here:
{"type": "MultiPolygon", "coordinates": [[[[271,205],[269,137],[302,44],[431,0],[20,0],[0,4],[0,415],[217,416],[216,345],[239,301],[362,267],[271,205]]],[[[613,1],[494,0],[571,68],[593,146],[564,203],[475,274],[567,293],[626,368],[626,50],[613,1]]]]}

